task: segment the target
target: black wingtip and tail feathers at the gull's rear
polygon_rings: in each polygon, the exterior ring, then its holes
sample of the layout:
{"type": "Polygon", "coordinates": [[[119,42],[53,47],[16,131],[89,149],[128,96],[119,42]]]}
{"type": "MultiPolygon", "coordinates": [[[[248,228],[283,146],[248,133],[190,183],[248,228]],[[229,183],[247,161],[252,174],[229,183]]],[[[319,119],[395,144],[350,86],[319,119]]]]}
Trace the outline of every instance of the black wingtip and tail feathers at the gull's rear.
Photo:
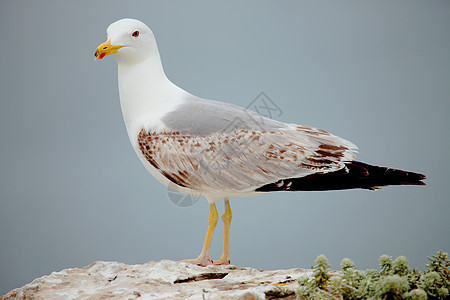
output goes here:
{"type": "Polygon", "coordinates": [[[257,192],[327,191],[346,189],[376,190],[388,185],[425,185],[425,175],[352,161],[346,168],[301,178],[289,178],[264,185],[257,192]]]}

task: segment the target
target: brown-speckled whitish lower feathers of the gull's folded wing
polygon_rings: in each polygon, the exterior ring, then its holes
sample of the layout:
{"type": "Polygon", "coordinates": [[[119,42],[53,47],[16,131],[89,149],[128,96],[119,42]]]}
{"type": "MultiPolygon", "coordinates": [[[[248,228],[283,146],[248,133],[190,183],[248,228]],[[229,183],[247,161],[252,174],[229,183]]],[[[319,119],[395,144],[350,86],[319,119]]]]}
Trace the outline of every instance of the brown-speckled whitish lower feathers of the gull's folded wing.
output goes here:
{"type": "Polygon", "coordinates": [[[145,159],[173,183],[207,192],[249,192],[284,178],[345,168],[353,153],[333,145],[326,131],[235,130],[207,136],[175,132],[138,134],[145,159]]]}

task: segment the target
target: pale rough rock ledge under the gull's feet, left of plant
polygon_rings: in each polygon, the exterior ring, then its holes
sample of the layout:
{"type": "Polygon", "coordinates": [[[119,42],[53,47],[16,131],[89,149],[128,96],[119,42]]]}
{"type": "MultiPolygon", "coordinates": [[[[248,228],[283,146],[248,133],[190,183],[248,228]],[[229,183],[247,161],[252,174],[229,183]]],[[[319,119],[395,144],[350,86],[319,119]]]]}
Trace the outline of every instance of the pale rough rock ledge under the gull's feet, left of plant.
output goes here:
{"type": "Polygon", "coordinates": [[[0,299],[295,299],[301,275],[312,272],[170,260],[143,265],[98,261],[37,278],[0,299]]]}

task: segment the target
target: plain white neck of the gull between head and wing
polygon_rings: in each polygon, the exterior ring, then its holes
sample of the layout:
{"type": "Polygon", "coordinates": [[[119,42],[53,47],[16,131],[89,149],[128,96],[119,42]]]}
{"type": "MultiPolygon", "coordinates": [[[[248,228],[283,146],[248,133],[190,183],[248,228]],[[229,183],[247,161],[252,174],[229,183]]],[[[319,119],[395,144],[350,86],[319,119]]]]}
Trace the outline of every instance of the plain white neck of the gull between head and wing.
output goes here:
{"type": "Polygon", "coordinates": [[[161,130],[160,119],[189,95],[164,73],[157,50],[145,60],[118,59],[120,105],[130,138],[142,128],[161,130]]]}

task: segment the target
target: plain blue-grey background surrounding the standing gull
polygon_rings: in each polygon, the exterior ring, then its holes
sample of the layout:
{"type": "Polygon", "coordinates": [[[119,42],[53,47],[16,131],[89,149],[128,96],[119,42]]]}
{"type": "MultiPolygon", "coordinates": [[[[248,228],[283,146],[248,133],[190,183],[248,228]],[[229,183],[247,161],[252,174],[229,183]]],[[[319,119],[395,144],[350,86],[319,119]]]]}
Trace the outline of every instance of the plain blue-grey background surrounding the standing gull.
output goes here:
{"type": "Polygon", "coordinates": [[[168,77],[192,94],[247,106],[264,91],[277,119],[428,176],[232,199],[232,264],[308,268],[325,254],[363,269],[388,254],[424,268],[450,250],[449,1],[1,1],[0,294],[96,260],[200,253],[206,201],[168,200],[129,144],[116,62],[93,60],[124,17],[152,28],[168,77]]]}

